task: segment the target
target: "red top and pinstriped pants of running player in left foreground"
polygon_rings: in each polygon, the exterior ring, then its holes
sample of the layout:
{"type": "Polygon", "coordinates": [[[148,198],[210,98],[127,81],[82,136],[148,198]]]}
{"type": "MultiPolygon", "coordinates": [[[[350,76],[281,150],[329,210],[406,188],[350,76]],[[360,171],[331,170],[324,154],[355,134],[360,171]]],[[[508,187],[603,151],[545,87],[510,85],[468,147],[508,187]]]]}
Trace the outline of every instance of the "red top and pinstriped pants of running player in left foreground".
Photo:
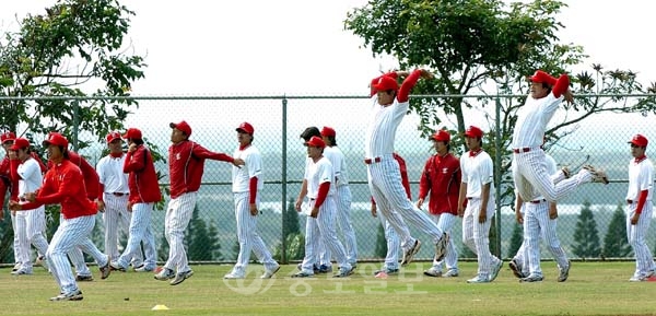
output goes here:
{"type": "Polygon", "coordinates": [[[61,222],[50,241],[46,258],[61,293],[68,294],[79,290],[68,260],[69,253],[80,247],[96,260],[98,267],[106,266],[108,257],[89,238],[95,224],[97,210],[95,202],[86,197],[82,172],[69,160],[50,165],[37,191],[35,202],[23,204],[23,209],[35,209],[43,204],[61,204],[61,222]]]}

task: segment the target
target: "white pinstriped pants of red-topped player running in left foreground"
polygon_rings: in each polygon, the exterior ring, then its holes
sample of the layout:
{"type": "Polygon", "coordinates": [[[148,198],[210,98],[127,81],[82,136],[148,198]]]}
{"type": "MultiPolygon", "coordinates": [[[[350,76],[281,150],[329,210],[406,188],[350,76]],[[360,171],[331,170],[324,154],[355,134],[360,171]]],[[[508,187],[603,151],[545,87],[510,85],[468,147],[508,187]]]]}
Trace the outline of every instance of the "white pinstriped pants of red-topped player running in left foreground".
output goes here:
{"type": "Polygon", "coordinates": [[[108,257],[101,253],[89,238],[94,225],[95,215],[79,216],[70,220],[62,219],[57,232],[52,235],[52,239],[46,251],[46,258],[50,264],[50,271],[59,284],[61,293],[70,293],[78,290],[67,254],[70,254],[74,249],[82,249],[94,257],[98,267],[105,266],[108,262],[108,257]]]}

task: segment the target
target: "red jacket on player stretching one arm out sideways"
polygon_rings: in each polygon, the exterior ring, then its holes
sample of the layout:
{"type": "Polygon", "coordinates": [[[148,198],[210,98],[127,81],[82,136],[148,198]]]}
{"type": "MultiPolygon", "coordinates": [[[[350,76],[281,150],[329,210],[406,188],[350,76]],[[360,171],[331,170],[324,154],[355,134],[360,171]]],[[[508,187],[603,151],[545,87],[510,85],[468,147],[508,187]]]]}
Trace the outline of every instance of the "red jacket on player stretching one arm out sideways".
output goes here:
{"type": "Polygon", "coordinates": [[[207,159],[231,163],[234,161],[230,155],[209,151],[190,140],[172,144],[168,148],[168,178],[171,179],[172,199],[186,192],[198,191],[207,159]]]}

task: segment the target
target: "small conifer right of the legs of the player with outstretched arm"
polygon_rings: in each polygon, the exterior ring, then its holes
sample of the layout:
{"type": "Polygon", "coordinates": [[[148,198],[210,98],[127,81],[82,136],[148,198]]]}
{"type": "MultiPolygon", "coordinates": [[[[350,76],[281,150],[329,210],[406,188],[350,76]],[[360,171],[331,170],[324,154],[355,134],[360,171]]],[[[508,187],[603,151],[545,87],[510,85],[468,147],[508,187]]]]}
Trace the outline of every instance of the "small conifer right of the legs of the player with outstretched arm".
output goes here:
{"type": "Polygon", "coordinates": [[[212,224],[208,225],[200,218],[198,206],[194,207],[189,227],[185,232],[185,247],[187,247],[189,260],[213,261],[222,259],[218,230],[212,224]]]}

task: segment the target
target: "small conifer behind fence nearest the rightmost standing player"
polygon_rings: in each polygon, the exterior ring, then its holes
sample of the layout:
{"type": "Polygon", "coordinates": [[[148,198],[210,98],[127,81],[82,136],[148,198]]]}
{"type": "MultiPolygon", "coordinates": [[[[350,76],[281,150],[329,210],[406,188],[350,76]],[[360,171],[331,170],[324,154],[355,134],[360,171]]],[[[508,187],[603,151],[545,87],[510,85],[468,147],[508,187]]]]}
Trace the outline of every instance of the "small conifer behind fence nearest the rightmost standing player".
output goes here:
{"type": "Polygon", "coordinates": [[[624,214],[624,203],[619,203],[612,213],[612,219],[608,224],[606,237],[604,237],[604,258],[625,258],[632,253],[631,245],[626,239],[626,215],[624,214]]]}

